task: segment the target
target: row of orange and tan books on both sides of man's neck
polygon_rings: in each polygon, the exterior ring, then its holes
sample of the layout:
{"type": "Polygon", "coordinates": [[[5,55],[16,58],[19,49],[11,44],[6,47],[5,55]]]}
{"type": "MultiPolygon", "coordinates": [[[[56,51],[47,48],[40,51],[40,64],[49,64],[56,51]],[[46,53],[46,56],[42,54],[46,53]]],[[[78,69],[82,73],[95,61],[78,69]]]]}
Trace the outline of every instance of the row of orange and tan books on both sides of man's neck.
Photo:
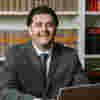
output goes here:
{"type": "MultiPolygon", "coordinates": [[[[0,55],[5,55],[8,46],[28,44],[31,37],[24,32],[0,32],[0,55]]],[[[56,42],[72,48],[77,47],[78,33],[76,30],[58,30],[55,38],[56,42]]]]}

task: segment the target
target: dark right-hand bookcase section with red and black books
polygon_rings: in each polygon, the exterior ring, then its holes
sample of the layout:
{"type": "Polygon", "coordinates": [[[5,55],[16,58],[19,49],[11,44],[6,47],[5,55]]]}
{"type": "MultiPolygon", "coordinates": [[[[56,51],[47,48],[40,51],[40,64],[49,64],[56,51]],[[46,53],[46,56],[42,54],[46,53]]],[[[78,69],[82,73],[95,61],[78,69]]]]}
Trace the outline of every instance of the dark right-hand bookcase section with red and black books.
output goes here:
{"type": "Polygon", "coordinates": [[[85,0],[85,66],[90,80],[100,80],[100,0],[85,0]]]}

